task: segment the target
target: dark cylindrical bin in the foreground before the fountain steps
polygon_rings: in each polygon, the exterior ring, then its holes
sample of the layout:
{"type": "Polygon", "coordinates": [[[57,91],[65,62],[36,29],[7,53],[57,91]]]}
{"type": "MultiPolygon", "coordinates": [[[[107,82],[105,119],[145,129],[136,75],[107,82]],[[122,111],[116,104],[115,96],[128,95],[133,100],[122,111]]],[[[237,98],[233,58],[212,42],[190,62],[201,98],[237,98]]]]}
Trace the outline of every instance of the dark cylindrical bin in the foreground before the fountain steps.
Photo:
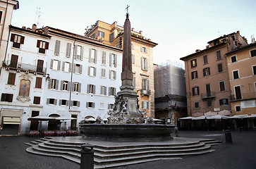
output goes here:
{"type": "Polygon", "coordinates": [[[92,144],[85,143],[82,146],[80,169],[93,169],[94,168],[94,150],[92,144]]]}

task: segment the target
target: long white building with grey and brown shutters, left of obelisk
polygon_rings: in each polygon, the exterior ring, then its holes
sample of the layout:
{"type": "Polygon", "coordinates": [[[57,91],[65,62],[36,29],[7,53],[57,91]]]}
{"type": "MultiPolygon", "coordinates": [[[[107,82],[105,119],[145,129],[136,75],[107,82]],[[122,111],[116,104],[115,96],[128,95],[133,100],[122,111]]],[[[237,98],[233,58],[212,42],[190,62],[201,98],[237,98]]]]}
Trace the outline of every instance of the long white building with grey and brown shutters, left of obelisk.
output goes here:
{"type": "MultiPolygon", "coordinates": [[[[36,130],[38,123],[28,118],[37,115],[75,118],[65,121],[71,128],[87,118],[106,118],[121,86],[121,54],[53,27],[10,26],[1,70],[1,134],[36,130]]],[[[42,130],[61,129],[61,122],[42,122],[42,130]]]]}

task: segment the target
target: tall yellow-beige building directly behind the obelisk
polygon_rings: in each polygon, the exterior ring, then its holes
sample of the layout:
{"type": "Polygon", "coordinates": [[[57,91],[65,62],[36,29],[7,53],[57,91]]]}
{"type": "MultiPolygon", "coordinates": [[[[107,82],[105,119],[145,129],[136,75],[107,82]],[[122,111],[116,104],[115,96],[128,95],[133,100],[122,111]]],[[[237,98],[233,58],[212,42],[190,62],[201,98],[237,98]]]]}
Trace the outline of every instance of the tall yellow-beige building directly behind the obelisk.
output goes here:
{"type": "MultiPolygon", "coordinates": [[[[86,30],[85,36],[101,39],[104,44],[122,48],[123,27],[116,22],[109,24],[98,20],[86,30]]],[[[131,41],[135,92],[139,95],[140,107],[146,111],[146,115],[154,117],[153,47],[157,46],[157,43],[145,38],[142,31],[135,32],[134,28],[131,30],[131,41]]]]}

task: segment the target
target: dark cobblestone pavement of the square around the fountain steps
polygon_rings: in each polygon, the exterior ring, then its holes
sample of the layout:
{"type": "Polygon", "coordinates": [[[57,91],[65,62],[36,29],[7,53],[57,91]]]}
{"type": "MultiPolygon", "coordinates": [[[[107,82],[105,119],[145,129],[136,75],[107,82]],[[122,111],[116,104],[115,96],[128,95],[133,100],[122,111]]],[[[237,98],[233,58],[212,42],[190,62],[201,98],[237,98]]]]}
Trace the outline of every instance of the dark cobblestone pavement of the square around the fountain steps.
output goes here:
{"type": "MultiPolygon", "coordinates": [[[[200,156],[185,156],[182,160],[160,160],[137,165],[127,165],[115,169],[158,169],[158,168],[207,168],[207,169],[253,169],[256,168],[256,132],[231,132],[233,144],[226,144],[222,131],[180,131],[180,137],[213,138],[223,143],[212,146],[216,151],[200,156]]],[[[0,168],[13,169],[79,169],[78,163],[64,158],[39,156],[25,151],[34,138],[26,136],[0,137],[0,168]]]]}

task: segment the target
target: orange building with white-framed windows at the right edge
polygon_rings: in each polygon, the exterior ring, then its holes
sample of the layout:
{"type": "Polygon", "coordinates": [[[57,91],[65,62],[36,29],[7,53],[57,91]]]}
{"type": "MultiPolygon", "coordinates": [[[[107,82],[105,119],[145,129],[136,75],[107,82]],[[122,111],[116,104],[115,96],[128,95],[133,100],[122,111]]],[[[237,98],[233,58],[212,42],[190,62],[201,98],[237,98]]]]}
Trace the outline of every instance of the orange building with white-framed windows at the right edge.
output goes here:
{"type": "MultiPolygon", "coordinates": [[[[256,113],[256,43],[226,54],[233,115],[256,113]]],[[[256,124],[256,123],[255,123],[256,124]]]]}

